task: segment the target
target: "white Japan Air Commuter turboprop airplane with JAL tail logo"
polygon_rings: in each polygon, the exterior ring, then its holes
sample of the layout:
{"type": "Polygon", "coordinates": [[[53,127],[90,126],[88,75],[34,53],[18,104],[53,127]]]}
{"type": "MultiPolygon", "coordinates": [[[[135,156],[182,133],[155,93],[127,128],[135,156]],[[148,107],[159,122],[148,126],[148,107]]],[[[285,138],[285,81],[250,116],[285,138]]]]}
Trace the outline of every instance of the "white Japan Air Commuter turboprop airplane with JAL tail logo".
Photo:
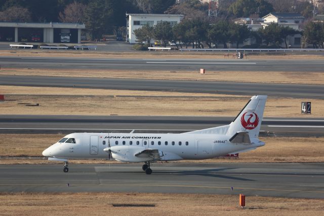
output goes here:
{"type": "Polygon", "coordinates": [[[254,150],[264,146],[259,131],[267,96],[256,95],[229,124],[180,134],[155,133],[71,133],[44,150],[49,160],[110,159],[144,162],[151,174],[151,162],[210,159],[254,150]]]}

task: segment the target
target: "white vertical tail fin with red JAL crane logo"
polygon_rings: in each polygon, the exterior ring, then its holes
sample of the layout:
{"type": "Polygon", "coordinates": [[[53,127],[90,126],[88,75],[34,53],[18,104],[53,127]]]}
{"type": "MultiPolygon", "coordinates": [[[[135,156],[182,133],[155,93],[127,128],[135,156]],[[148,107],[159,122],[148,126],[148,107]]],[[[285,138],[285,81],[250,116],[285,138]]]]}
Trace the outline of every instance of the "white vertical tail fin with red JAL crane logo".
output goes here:
{"type": "Polygon", "coordinates": [[[229,125],[227,134],[234,135],[246,131],[249,132],[250,138],[258,137],[266,100],[266,95],[253,96],[229,125]]]}

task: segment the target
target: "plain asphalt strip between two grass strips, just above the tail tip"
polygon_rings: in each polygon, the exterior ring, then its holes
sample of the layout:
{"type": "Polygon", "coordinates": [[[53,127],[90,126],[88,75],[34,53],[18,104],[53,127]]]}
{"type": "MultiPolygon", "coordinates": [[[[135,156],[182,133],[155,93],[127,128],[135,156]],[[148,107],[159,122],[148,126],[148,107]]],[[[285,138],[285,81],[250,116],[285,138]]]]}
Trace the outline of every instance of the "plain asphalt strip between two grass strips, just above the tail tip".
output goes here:
{"type": "Polygon", "coordinates": [[[209,82],[147,79],[73,78],[48,76],[0,75],[0,85],[73,87],[143,91],[175,91],[219,93],[230,95],[268,95],[269,97],[318,98],[324,94],[323,85],[209,82]]]}

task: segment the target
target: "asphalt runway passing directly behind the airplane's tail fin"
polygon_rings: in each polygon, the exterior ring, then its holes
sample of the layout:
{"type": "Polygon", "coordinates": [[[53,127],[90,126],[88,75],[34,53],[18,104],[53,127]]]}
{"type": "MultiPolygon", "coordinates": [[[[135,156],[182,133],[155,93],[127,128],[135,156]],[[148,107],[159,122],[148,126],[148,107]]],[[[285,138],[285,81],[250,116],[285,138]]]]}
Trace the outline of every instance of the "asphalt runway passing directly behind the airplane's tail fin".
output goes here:
{"type": "MultiPolygon", "coordinates": [[[[229,124],[234,117],[0,115],[0,133],[182,133],[229,124]]],[[[276,136],[324,136],[324,119],[265,118],[261,130],[276,136]]],[[[261,133],[267,135],[267,133],[261,133]]],[[[271,134],[270,134],[271,135],[271,134]]]]}

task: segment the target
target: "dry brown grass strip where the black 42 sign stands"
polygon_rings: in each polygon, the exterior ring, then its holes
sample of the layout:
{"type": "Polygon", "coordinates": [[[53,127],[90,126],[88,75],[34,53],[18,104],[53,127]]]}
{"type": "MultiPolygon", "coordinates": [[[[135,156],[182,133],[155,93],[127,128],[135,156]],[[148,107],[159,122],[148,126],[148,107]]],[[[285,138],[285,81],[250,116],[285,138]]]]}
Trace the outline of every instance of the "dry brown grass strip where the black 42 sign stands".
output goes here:
{"type": "MultiPolygon", "coordinates": [[[[234,117],[251,98],[250,95],[238,97],[221,94],[10,86],[0,86],[0,94],[5,94],[7,99],[0,103],[0,114],[5,115],[234,117]],[[39,106],[26,106],[25,103],[39,103],[39,106]]],[[[300,111],[301,101],[308,100],[268,98],[264,116],[309,117],[302,115],[300,111]]],[[[311,101],[311,117],[323,117],[324,100],[311,101]]]]}

